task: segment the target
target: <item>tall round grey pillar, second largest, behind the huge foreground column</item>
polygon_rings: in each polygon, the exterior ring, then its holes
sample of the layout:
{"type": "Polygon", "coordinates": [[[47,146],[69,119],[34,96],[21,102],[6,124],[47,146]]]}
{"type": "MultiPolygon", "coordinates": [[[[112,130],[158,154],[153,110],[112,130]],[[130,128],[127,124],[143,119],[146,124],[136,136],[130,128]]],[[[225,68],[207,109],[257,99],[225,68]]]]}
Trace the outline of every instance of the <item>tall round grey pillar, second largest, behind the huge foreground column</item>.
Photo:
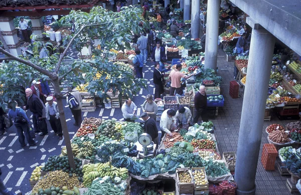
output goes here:
{"type": "Polygon", "coordinates": [[[220,0],[210,0],[207,5],[205,68],[216,70],[218,50],[218,23],[220,0]]]}

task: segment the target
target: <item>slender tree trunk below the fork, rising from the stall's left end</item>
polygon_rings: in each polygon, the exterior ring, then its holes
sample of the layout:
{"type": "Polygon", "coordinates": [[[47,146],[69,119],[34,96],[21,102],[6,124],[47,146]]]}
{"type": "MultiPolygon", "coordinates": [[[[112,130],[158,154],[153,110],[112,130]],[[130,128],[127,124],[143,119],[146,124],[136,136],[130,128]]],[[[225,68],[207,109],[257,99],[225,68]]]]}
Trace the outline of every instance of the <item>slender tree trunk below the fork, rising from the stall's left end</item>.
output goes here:
{"type": "Polygon", "coordinates": [[[58,79],[53,80],[53,84],[54,84],[53,88],[54,88],[54,92],[55,92],[54,95],[55,95],[55,98],[57,99],[58,109],[60,112],[60,120],[61,120],[62,129],[63,129],[65,144],[66,144],[66,148],[67,148],[69,165],[71,168],[75,169],[76,167],[75,167],[74,157],[73,157],[73,153],[72,153],[71,141],[69,139],[69,132],[68,132],[66,117],[65,117],[65,113],[64,113],[64,105],[62,102],[63,95],[60,91],[59,80],[58,79]]]}

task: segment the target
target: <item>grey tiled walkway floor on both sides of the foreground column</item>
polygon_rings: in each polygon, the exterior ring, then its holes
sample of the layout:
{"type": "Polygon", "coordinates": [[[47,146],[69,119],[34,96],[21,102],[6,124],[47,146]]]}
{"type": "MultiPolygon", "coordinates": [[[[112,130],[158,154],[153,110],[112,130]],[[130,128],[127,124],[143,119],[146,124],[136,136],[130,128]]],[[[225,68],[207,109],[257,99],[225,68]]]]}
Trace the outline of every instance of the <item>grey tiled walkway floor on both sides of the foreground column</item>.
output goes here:
{"type": "MultiPolygon", "coordinates": [[[[232,99],[229,95],[229,84],[230,81],[233,81],[233,71],[234,71],[234,62],[226,62],[225,54],[222,50],[219,50],[218,53],[218,75],[222,76],[223,83],[221,85],[221,94],[223,94],[225,99],[225,106],[219,108],[218,116],[215,120],[212,120],[216,126],[215,135],[217,137],[219,151],[230,152],[237,151],[237,141],[238,141],[238,132],[240,125],[241,109],[243,98],[232,99]]],[[[267,133],[265,128],[272,123],[279,123],[283,126],[287,123],[292,122],[289,120],[278,120],[277,117],[272,116],[271,121],[264,121],[262,128],[262,139],[260,154],[257,165],[256,173],[256,194],[260,195],[284,195],[291,194],[286,187],[286,179],[288,176],[280,176],[279,171],[276,169],[274,171],[264,170],[260,159],[262,146],[264,143],[268,143],[267,133]]],[[[279,161],[279,159],[277,159],[279,161]]],[[[247,176],[247,175],[246,175],[247,176]]],[[[299,193],[292,193],[299,194],[299,193]]]]}

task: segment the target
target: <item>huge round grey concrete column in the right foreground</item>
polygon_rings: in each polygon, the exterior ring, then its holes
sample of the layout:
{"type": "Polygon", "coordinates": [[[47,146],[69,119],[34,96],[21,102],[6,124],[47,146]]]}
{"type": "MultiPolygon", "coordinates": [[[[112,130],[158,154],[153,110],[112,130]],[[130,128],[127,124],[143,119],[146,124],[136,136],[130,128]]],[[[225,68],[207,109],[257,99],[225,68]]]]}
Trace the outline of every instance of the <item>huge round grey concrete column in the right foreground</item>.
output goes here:
{"type": "Polygon", "coordinates": [[[255,175],[274,45],[272,34],[253,29],[235,166],[237,195],[255,194],[255,175]]]}

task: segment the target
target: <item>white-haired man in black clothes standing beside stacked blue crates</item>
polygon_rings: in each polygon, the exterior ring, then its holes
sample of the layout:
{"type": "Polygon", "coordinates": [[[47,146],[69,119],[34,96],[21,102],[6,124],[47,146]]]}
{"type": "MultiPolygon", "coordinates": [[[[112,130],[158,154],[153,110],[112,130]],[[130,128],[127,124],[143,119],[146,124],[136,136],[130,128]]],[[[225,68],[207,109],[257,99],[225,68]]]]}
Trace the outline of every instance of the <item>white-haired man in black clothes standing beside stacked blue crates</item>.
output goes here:
{"type": "Polygon", "coordinates": [[[195,113],[193,114],[193,123],[197,123],[200,117],[202,121],[206,121],[207,95],[205,92],[205,86],[200,86],[199,91],[195,95],[194,101],[195,113]]]}

